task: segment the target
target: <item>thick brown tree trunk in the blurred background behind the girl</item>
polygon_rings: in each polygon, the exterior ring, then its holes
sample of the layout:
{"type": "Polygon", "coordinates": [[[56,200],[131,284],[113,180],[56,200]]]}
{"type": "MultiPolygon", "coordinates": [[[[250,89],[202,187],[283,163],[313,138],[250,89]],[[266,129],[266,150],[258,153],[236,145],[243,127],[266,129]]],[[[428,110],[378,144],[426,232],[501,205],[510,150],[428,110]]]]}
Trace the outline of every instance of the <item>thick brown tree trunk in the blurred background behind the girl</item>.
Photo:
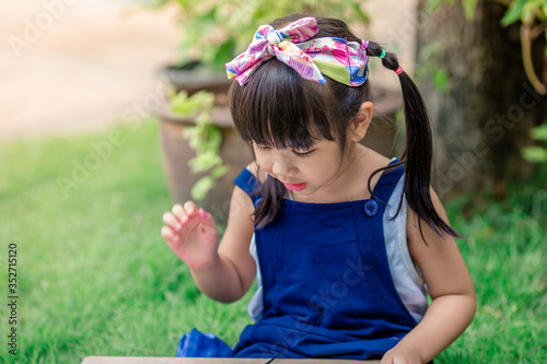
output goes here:
{"type": "MultiPolygon", "coordinates": [[[[435,188],[503,196],[507,180],[529,176],[521,149],[547,109],[524,73],[520,23],[502,27],[507,8],[493,1],[479,0],[473,20],[459,3],[430,12],[426,2],[418,1],[417,72],[435,134],[435,188]]],[[[543,49],[545,39],[534,44],[540,67],[543,49]]]]}

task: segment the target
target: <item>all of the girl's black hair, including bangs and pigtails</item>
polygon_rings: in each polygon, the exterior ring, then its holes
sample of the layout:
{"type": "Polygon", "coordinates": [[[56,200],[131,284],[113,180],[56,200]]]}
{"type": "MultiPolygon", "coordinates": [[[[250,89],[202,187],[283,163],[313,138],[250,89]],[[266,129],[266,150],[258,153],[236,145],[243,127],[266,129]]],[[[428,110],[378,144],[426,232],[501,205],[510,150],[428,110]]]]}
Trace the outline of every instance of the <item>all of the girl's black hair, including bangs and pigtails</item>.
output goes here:
{"type": "MultiPolygon", "coordinates": [[[[270,23],[280,28],[306,14],[291,14],[270,23]]],[[[311,39],[339,37],[361,42],[337,19],[316,17],[318,33],[311,39]]],[[[382,47],[369,40],[366,55],[380,57],[382,47]]],[[[396,71],[397,57],[385,52],[382,64],[396,71]]],[[[249,146],[310,149],[317,139],[337,141],[342,155],[346,151],[348,127],[358,115],[361,104],[371,99],[370,83],[348,86],[324,75],[319,84],[300,77],[293,69],[271,58],[264,62],[243,86],[234,82],[230,89],[230,110],[235,128],[249,146]]],[[[387,168],[405,165],[404,192],[408,204],[438,234],[459,235],[450,227],[433,208],[430,195],[432,138],[429,115],[418,87],[406,72],[398,74],[405,105],[406,150],[398,163],[375,171],[369,179],[387,168]]],[[[254,212],[257,228],[271,222],[282,204],[286,188],[276,178],[266,178],[257,193],[263,196],[254,212]]],[[[421,225],[420,225],[421,232],[421,225]]]]}

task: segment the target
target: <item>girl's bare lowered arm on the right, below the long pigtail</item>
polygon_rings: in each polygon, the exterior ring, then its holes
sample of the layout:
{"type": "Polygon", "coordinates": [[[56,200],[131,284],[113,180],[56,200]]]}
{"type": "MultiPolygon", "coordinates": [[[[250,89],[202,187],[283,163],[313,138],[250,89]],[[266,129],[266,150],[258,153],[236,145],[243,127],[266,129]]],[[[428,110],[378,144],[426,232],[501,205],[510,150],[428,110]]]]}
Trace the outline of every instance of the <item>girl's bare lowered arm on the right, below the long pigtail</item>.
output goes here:
{"type": "MultiPolygon", "coordinates": [[[[431,189],[439,215],[447,223],[441,201],[431,189]]],[[[476,309],[469,271],[451,236],[441,237],[408,209],[407,239],[412,259],[420,268],[432,303],[423,319],[382,359],[382,364],[427,363],[456,340],[470,324],[476,309]]]]}

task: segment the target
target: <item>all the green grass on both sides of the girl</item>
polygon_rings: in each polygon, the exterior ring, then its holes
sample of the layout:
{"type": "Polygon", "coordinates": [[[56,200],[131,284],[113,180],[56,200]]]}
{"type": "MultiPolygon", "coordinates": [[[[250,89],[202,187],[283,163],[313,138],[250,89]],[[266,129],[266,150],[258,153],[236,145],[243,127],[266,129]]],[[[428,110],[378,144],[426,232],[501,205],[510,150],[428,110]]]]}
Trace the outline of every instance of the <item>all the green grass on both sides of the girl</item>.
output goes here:
{"type": "MultiPolygon", "coordinates": [[[[179,336],[194,327],[235,344],[249,324],[249,294],[230,305],[205,297],[160,236],[172,200],[156,122],[115,129],[121,141],[105,157],[93,145],[112,131],[0,148],[0,261],[7,267],[8,245],[16,242],[20,363],[173,356],[179,336]],[[80,164],[89,175],[74,169],[80,164]],[[70,184],[74,171],[79,183],[70,184]]],[[[470,197],[447,204],[453,225],[468,236],[461,247],[479,307],[437,363],[547,360],[545,180],[516,186],[505,202],[482,198],[491,203],[468,219],[459,211],[470,197]]],[[[10,363],[7,280],[2,268],[0,359],[10,363]]]]}

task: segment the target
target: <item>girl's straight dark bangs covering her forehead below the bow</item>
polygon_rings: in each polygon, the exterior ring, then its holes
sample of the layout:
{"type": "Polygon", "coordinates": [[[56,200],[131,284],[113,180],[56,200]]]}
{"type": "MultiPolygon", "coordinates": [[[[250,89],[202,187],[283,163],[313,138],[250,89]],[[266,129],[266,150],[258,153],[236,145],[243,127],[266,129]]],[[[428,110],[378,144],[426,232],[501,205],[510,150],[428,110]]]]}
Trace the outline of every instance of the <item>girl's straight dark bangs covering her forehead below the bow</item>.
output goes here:
{"type": "Polygon", "coordinates": [[[306,150],[317,140],[336,139],[328,115],[333,108],[326,105],[334,97],[328,93],[326,84],[304,80],[270,59],[243,86],[232,84],[230,109],[235,128],[249,145],[306,150]]]}

